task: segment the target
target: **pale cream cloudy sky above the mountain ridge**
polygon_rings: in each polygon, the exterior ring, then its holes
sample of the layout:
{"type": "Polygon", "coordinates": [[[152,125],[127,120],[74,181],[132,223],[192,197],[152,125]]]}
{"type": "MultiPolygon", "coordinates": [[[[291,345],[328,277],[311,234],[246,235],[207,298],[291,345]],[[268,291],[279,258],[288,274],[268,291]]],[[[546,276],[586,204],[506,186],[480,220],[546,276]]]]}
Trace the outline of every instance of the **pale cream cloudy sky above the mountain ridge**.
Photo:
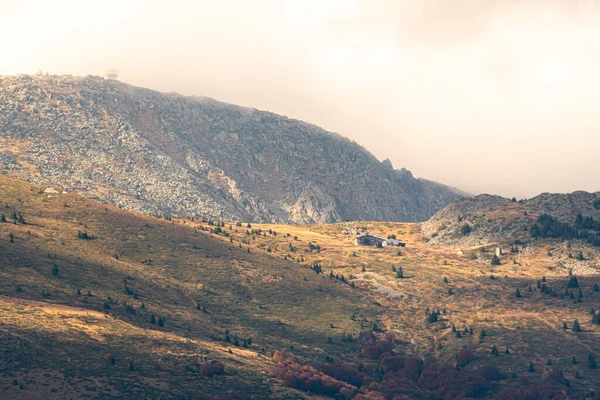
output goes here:
{"type": "Polygon", "coordinates": [[[0,75],[276,112],[517,198],[600,191],[600,0],[0,0],[0,75]]]}

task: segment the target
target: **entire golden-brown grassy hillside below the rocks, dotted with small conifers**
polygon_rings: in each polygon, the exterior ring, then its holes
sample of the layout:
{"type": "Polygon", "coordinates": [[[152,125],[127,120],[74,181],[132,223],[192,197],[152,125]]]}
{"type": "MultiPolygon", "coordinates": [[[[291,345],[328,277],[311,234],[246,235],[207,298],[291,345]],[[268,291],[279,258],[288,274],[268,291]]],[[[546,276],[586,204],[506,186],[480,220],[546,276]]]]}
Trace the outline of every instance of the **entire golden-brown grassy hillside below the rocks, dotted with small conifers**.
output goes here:
{"type": "Polygon", "coordinates": [[[543,382],[553,393],[584,398],[600,386],[588,365],[590,354],[600,356],[600,325],[590,313],[600,308],[598,253],[583,243],[531,240],[517,253],[505,244],[493,266],[494,246],[461,255],[430,247],[418,224],[166,221],[44,189],[0,177],[7,220],[0,223],[0,397],[319,392],[272,376],[291,368],[285,350],[305,372],[360,371],[362,386],[352,381],[357,388],[346,398],[391,399],[396,389],[386,382],[398,372],[384,356],[369,355],[368,338],[390,343],[388,357],[421,360],[420,375],[398,378],[402,390],[412,388],[409,398],[425,390],[420,398],[456,397],[447,388],[433,394],[450,372],[440,369],[428,382],[432,360],[481,384],[480,397],[515,398],[543,382]],[[358,231],[393,234],[407,246],[356,247],[358,231]],[[568,288],[569,271],[579,287],[568,288]],[[431,322],[428,311],[438,310],[431,322]],[[210,361],[224,374],[207,376],[210,361]]]}

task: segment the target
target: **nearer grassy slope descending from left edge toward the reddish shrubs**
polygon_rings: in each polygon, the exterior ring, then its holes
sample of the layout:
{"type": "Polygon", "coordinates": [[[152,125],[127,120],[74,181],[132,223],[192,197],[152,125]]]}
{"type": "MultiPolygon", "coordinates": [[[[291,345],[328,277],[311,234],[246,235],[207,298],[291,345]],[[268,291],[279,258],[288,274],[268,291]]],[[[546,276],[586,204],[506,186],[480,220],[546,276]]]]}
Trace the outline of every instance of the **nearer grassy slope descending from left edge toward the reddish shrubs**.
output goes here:
{"type": "Polygon", "coordinates": [[[339,336],[376,319],[365,293],[249,250],[242,228],[42,189],[0,176],[2,398],[301,398],[270,354],[351,353],[339,336]]]}

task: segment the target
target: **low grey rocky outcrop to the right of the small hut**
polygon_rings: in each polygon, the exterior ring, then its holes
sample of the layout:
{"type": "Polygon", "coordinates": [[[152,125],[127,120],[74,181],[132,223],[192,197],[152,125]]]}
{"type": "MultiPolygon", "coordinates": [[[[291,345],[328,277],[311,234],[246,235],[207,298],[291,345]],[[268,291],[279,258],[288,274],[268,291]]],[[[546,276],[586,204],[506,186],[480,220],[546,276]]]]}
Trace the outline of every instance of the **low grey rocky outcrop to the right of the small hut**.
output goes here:
{"type": "Polygon", "coordinates": [[[486,194],[448,205],[421,225],[421,233],[431,245],[456,248],[527,241],[540,215],[573,225],[579,213],[600,220],[600,192],[543,193],[520,201],[486,194]]]}

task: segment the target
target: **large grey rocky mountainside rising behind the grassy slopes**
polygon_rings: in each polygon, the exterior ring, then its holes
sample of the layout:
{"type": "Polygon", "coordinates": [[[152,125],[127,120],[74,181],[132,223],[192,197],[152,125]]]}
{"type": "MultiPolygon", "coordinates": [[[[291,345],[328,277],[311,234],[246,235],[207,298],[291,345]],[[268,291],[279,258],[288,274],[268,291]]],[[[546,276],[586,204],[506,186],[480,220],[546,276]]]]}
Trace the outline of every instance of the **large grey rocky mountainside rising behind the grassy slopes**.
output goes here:
{"type": "Polygon", "coordinates": [[[0,78],[2,173],[149,214],[422,221],[459,191],[269,112],[99,77],[0,78]]]}

